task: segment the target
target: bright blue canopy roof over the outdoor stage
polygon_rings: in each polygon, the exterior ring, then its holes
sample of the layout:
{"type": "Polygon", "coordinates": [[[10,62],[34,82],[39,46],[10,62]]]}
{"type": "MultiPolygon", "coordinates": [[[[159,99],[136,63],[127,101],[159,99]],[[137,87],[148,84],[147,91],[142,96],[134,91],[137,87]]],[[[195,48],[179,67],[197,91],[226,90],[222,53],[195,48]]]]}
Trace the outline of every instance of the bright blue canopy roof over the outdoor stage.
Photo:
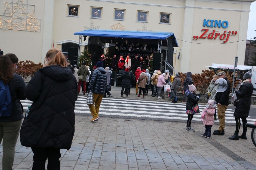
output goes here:
{"type": "Polygon", "coordinates": [[[136,39],[154,39],[154,40],[172,40],[174,47],[178,47],[178,42],[171,32],[154,31],[119,31],[119,30],[84,30],[75,32],[74,35],[86,35],[96,37],[117,37],[117,38],[136,38],[136,39]]]}

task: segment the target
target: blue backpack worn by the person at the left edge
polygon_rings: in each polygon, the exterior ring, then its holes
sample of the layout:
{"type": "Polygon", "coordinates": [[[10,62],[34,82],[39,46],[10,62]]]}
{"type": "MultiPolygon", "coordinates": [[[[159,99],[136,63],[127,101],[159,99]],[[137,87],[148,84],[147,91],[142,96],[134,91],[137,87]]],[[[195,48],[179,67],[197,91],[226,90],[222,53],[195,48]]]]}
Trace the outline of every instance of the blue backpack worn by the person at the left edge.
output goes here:
{"type": "Polygon", "coordinates": [[[8,84],[0,80],[0,117],[12,115],[11,93],[8,84]]]}

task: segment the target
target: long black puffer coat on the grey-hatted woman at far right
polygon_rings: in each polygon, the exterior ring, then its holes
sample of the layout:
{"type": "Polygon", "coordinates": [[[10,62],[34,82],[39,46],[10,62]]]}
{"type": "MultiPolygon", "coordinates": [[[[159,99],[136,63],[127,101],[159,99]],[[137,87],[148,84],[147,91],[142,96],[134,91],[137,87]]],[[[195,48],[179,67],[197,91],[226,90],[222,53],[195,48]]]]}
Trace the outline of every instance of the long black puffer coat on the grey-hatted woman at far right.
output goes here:
{"type": "Polygon", "coordinates": [[[240,86],[239,90],[236,91],[237,102],[234,116],[240,118],[246,118],[249,116],[251,108],[251,95],[253,92],[253,85],[251,83],[244,83],[240,86]]]}

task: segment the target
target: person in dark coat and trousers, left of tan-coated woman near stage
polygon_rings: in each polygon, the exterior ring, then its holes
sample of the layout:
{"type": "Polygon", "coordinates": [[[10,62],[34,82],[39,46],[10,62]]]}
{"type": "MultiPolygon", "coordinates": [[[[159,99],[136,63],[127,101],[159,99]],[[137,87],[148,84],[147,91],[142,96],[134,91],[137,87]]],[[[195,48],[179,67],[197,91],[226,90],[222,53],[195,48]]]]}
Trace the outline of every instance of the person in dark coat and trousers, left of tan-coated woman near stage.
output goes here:
{"type": "Polygon", "coordinates": [[[122,82],[121,82],[121,97],[123,97],[123,90],[125,88],[125,92],[126,92],[126,97],[128,97],[129,95],[129,89],[131,88],[131,84],[132,84],[132,74],[129,72],[129,68],[125,69],[125,72],[122,75],[122,82]]]}

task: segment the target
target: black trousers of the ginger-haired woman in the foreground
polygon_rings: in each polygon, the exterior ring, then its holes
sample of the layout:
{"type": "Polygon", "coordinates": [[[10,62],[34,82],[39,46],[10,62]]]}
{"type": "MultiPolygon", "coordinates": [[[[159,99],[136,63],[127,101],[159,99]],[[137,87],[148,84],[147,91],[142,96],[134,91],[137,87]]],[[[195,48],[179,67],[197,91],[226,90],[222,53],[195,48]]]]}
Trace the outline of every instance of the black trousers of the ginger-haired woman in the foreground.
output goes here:
{"type": "Polygon", "coordinates": [[[45,161],[48,159],[48,170],[60,170],[60,148],[31,148],[34,156],[32,170],[45,170],[45,161]]]}

